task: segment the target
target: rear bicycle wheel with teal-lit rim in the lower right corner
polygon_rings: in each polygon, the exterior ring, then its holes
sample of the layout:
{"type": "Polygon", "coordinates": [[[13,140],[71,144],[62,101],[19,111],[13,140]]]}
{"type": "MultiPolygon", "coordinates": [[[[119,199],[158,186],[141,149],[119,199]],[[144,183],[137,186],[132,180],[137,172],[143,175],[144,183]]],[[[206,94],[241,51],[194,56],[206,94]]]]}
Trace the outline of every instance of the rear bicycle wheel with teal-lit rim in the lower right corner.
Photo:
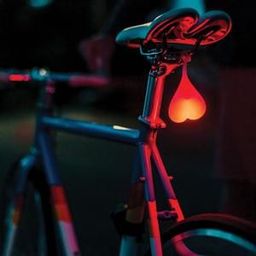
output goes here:
{"type": "MultiPolygon", "coordinates": [[[[174,224],[161,236],[163,255],[256,255],[256,226],[230,215],[207,213],[174,224]]],[[[151,255],[150,250],[146,255],[151,255]]]]}

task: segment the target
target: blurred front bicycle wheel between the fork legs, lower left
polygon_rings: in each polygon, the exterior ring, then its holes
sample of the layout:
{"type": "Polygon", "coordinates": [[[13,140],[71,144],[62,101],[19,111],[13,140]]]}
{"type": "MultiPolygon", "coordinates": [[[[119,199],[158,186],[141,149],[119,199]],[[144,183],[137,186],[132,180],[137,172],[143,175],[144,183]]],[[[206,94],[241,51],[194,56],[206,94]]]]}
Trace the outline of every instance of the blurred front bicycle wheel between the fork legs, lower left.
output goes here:
{"type": "Polygon", "coordinates": [[[15,205],[15,183],[20,170],[20,160],[8,173],[4,185],[0,209],[0,253],[3,256],[44,256],[57,255],[55,246],[55,229],[50,207],[48,187],[43,172],[33,168],[28,175],[25,201],[20,222],[11,250],[7,247],[10,228],[13,226],[15,205]],[[3,250],[3,251],[2,251],[3,250]]]}

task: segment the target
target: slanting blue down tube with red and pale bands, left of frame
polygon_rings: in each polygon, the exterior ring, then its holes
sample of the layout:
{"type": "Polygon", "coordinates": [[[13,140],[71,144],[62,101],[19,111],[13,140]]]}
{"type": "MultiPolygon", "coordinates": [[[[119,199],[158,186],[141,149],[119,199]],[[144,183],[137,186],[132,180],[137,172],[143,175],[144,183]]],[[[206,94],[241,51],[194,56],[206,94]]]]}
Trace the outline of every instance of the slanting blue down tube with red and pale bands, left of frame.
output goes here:
{"type": "Polygon", "coordinates": [[[42,131],[38,137],[38,141],[42,152],[45,175],[50,187],[52,204],[63,251],[66,256],[79,256],[79,246],[74,232],[73,221],[67,204],[65,191],[61,185],[51,137],[49,137],[47,132],[42,131]]]}

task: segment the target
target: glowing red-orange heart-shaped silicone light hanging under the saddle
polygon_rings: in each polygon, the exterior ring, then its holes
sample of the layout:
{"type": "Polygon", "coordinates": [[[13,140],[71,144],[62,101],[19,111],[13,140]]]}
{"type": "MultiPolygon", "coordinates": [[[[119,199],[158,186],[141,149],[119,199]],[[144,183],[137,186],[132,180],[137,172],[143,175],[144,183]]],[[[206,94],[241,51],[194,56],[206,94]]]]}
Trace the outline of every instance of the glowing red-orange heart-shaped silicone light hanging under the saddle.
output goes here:
{"type": "Polygon", "coordinates": [[[184,63],[182,79],[169,105],[169,117],[175,123],[182,123],[187,119],[200,119],[206,110],[206,102],[191,84],[187,74],[187,63],[184,63]]]}

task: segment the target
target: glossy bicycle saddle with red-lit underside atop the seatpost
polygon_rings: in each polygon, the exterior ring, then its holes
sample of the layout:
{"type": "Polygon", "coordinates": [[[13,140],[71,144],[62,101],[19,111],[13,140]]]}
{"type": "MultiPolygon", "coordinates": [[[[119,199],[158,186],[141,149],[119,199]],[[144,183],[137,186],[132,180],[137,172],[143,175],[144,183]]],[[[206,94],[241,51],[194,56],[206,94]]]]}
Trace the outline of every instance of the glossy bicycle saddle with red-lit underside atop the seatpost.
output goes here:
{"type": "Polygon", "coordinates": [[[151,22],[125,28],[117,35],[116,42],[131,48],[148,43],[194,45],[198,40],[200,45],[206,45],[224,38],[231,26],[230,16],[223,11],[209,11],[199,19],[195,9],[174,9],[151,22]]]}

